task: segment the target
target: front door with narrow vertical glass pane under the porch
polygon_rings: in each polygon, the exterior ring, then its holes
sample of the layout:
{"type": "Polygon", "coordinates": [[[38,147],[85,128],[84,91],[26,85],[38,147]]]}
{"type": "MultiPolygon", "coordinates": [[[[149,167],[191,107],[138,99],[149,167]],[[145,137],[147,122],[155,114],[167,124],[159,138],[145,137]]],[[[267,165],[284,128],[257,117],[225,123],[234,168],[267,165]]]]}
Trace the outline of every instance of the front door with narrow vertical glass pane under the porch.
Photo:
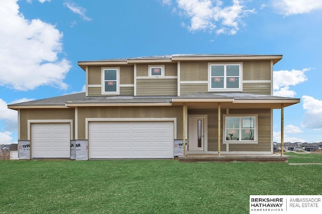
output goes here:
{"type": "Polygon", "coordinates": [[[188,150],[204,151],[204,122],[203,117],[189,117],[188,120],[188,150]]]}

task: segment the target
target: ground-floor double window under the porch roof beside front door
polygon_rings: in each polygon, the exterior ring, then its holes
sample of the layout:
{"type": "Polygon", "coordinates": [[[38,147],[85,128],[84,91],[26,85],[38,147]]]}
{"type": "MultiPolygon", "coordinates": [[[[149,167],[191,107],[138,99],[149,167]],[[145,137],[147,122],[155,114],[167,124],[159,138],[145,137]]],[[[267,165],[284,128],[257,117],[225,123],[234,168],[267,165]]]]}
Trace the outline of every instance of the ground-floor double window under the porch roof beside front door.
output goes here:
{"type": "Polygon", "coordinates": [[[257,143],[257,115],[224,115],[225,143],[257,143]]]}

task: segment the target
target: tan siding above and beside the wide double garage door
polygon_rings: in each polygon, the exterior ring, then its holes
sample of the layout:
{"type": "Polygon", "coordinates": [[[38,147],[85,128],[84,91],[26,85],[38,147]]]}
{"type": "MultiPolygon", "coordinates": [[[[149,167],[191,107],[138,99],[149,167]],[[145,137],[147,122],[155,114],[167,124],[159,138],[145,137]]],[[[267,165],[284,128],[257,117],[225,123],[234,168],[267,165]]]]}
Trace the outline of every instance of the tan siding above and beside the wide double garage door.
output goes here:
{"type": "Polygon", "coordinates": [[[182,139],[182,106],[78,107],[79,139],[85,139],[86,118],[177,118],[177,139],[182,139]]]}

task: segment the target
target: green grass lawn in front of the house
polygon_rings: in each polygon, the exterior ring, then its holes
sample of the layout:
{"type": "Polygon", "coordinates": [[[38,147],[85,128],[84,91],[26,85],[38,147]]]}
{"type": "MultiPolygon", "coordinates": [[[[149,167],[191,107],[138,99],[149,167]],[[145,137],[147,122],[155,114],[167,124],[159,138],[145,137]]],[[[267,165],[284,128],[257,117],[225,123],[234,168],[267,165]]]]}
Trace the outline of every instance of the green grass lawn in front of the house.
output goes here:
{"type": "Polygon", "coordinates": [[[249,195],[322,193],[322,165],[0,160],[0,170],[0,213],[249,213],[249,195]]]}

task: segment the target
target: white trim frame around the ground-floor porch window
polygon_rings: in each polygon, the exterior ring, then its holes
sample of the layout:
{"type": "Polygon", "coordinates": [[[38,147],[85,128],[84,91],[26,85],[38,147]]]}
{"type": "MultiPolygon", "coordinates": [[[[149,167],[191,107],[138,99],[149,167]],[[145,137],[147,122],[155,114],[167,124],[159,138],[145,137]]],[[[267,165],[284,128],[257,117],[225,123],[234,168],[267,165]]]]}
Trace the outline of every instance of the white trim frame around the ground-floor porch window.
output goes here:
{"type": "MultiPolygon", "coordinates": [[[[224,114],[222,125],[223,144],[258,144],[258,115],[257,114],[224,114]],[[226,140],[226,117],[255,117],[255,138],[254,140],[226,140]]],[[[241,129],[241,128],[239,128],[241,129]]]]}

